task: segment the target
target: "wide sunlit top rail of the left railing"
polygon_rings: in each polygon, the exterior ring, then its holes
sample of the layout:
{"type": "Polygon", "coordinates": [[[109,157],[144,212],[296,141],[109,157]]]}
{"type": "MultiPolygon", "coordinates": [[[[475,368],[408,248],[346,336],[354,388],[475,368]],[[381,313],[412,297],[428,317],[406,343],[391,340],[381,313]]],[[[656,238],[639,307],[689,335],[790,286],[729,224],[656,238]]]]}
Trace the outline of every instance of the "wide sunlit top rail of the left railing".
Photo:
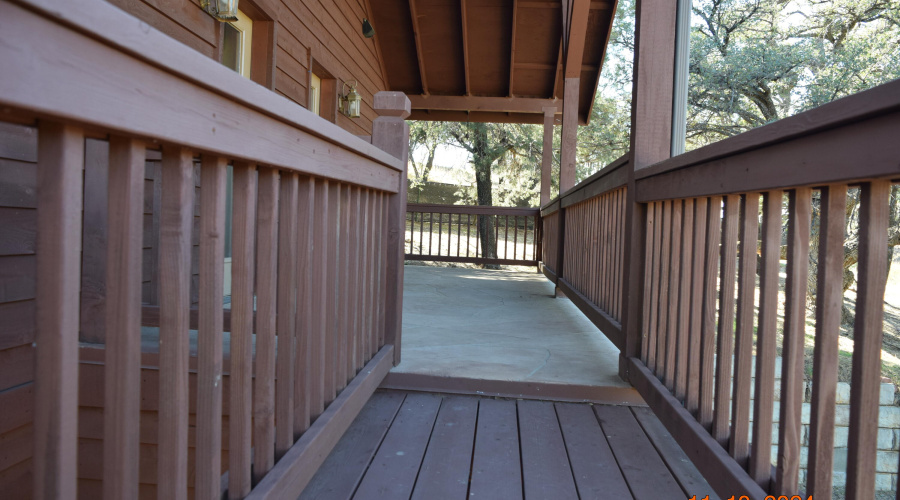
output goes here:
{"type": "Polygon", "coordinates": [[[0,74],[0,103],[26,117],[396,191],[399,159],[107,2],[0,9],[0,61],[16,68],[0,74]]]}

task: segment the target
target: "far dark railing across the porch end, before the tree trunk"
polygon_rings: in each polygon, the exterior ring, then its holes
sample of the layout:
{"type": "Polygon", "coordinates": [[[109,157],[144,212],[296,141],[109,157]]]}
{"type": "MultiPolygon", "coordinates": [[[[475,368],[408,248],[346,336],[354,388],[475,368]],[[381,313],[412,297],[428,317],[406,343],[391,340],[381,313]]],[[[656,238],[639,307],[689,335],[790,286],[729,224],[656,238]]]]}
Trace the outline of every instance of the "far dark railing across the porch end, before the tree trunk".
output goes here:
{"type": "Polygon", "coordinates": [[[406,260],[536,266],[540,235],[537,208],[406,207],[406,260]]]}

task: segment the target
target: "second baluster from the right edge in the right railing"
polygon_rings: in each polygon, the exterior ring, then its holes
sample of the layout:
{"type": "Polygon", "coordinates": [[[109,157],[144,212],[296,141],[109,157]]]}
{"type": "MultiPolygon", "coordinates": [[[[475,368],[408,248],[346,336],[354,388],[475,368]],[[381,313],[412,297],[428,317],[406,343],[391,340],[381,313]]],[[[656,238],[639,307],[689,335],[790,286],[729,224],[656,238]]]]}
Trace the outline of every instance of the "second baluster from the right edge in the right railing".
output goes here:
{"type": "Polygon", "coordinates": [[[834,413],[837,386],[838,335],[841,327],[844,271],[844,227],[847,186],[822,189],[816,279],[816,343],[813,354],[812,404],[809,426],[809,467],[806,492],[832,497],[834,413]]]}

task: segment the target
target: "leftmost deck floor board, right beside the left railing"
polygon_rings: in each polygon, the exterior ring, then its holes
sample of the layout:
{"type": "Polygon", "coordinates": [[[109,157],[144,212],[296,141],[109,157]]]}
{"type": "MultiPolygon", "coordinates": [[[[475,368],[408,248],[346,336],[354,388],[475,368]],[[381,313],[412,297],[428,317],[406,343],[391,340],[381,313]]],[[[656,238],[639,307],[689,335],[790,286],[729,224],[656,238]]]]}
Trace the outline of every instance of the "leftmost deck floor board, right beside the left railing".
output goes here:
{"type": "Polygon", "coordinates": [[[300,500],[349,500],[369,468],[405,395],[378,392],[319,467],[300,500]]]}

